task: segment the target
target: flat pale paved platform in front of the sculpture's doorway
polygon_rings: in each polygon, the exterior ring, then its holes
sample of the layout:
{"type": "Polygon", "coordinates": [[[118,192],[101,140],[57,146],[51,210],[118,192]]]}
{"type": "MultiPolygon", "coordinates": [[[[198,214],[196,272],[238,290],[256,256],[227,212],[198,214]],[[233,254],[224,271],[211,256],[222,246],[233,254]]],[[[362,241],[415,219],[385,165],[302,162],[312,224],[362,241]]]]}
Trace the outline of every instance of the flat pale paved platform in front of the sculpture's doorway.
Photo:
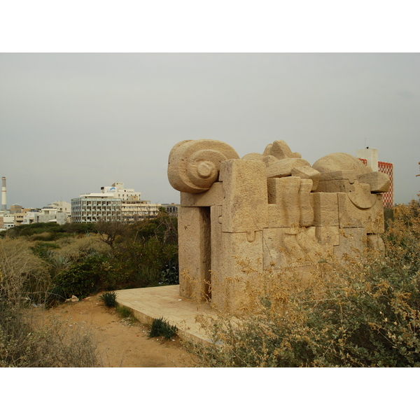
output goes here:
{"type": "Polygon", "coordinates": [[[153,318],[163,317],[169,324],[178,327],[181,339],[206,344],[209,337],[196,321],[198,315],[215,317],[210,304],[181,297],[179,285],[116,290],[117,302],[130,308],[141,323],[151,324],[153,318]]]}

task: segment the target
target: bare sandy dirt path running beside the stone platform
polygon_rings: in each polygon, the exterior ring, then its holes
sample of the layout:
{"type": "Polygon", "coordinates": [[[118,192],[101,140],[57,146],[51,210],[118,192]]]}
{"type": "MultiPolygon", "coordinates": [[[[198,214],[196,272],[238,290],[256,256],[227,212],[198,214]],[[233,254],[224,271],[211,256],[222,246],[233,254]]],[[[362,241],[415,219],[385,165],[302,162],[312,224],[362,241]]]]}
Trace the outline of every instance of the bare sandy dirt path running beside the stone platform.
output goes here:
{"type": "Polygon", "coordinates": [[[99,295],[80,302],[67,302],[44,310],[34,309],[38,316],[58,318],[71,328],[92,332],[99,358],[104,367],[194,367],[193,357],[178,337],[167,341],[148,338],[148,327],[124,319],[116,309],[104,306],[99,295]]]}

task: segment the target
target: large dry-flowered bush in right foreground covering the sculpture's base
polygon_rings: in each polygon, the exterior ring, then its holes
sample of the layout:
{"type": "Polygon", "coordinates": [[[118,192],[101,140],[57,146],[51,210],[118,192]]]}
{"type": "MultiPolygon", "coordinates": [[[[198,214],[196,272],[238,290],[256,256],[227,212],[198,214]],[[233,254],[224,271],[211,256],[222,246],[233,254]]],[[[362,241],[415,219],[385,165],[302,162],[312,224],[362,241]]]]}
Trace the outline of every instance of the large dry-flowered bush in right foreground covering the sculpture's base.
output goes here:
{"type": "Polygon", "coordinates": [[[311,284],[281,281],[258,314],[219,316],[197,346],[205,365],[235,367],[420,366],[420,218],[416,202],[394,210],[385,254],[319,261],[311,284]]]}

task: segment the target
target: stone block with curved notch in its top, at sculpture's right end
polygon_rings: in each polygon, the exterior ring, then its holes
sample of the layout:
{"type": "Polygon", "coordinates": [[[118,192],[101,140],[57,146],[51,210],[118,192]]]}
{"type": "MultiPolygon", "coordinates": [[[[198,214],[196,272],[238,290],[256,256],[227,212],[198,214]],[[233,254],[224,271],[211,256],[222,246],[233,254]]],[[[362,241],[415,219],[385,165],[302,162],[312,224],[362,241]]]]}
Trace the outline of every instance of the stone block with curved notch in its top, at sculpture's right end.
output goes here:
{"type": "MultiPolygon", "coordinates": [[[[315,193],[316,194],[316,193],[315,193]]],[[[375,204],[370,209],[359,209],[346,193],[337,193],[340,228],[366,228],[367,233],[384,232],[384,206],[382,196],[374,195],[375,204]]]]}

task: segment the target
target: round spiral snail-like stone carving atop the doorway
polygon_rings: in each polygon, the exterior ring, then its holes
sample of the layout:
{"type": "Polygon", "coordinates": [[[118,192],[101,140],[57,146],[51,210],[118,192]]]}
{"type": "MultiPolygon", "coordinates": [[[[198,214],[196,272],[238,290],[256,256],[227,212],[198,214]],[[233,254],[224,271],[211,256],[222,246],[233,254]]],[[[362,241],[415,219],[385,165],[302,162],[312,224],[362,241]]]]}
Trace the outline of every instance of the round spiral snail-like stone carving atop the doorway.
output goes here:
{"type": "Polygon", "coordinates": [[[203,193],[218,180],[221,162],[228,159],[239,155],[223,141],[180,141],[169,153],[169,183],[183,193],[203,193]]]}

